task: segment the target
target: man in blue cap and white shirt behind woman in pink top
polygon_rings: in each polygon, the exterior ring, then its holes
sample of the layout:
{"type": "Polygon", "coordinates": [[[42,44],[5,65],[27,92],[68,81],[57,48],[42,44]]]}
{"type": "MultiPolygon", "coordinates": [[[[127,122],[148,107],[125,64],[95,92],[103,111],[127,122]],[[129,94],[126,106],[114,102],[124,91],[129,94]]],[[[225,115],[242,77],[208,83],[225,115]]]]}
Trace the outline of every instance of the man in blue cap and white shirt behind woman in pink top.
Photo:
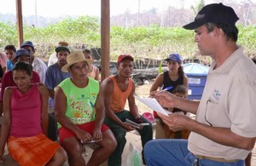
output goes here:
{"type": "Polygon", "coordinates": [[[30,54],[29,63],[33,66],[33,71],[38,72],[40,80],[42,83],[45,83],[45,72],[47,70],[47,66],[44,61],[35,57],[35,48],[31,41],[25,41],[21,44],[20,48],[26,49],[30,54]]]}

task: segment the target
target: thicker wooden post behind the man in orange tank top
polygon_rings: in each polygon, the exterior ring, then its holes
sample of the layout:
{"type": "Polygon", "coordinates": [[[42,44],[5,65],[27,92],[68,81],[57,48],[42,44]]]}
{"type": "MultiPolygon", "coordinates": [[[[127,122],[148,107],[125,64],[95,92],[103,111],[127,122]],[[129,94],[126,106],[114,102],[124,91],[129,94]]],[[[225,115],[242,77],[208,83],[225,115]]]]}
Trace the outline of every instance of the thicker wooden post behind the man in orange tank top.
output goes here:
{"type": "Polygon", "coordinates": [[[110,31],[110,8],[109,0],[102,0],[101,35],[102,35],[102,81],[109,76],[109,31],[110,31]]]}

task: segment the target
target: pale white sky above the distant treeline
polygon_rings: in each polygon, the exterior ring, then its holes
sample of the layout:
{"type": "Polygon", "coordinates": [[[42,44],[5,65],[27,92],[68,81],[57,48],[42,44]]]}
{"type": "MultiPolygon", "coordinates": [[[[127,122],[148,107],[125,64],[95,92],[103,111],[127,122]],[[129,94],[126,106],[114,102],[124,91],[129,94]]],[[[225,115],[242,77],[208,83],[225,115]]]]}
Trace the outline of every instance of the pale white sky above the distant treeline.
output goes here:
{"type": "MultiPolygon", "coordinates": [[[[228,2],[229,0],[219,0],[228,2]]],[[[244,0],[233,0],[241,2],[244,0]]],[[[251,0],[256,3],[256,0],[251,0]]],[[[138,12],[138,2],[140,2],[140,12],[143,10],[156,8],[159,11],[167,9],[168,6],[190,8],[198,0],[109,0],[110,15],[124,14],[125,11],[138,12]]],[[[205,0],[205,3],[212,3],[212,0],[205,0]]],[[[0,0],[0,14],[16,14],[16,0],[0,0]]],[[[100,17],[101,0],[22,0],[22,14],[42,15],[45,17],[58,17],[61,15],[90,15],[100,17]],[[37,6],[37,8],[35,8],[37,6]]]]}

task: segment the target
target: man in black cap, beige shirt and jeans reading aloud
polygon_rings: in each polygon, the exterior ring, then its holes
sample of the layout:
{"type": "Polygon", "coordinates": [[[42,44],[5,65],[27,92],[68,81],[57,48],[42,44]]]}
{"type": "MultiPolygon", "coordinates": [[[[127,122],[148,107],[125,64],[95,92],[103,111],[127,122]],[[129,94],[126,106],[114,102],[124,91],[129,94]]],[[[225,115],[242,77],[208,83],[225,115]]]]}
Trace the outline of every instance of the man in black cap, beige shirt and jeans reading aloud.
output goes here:
{"type": "Polygon", "coordinates": [[[154,94],[160,105],[196,114],[195,120],[172,114],[160,117],[170,129],[189,129],[189,140],[152,140],[145,146],[151,165],[244,165],[256,137],[256,67],[236,44],[238,17],[222,3],[205,6],[183,26],[195,30],[202,55],[212,57],[200,101],[154,94]]]}

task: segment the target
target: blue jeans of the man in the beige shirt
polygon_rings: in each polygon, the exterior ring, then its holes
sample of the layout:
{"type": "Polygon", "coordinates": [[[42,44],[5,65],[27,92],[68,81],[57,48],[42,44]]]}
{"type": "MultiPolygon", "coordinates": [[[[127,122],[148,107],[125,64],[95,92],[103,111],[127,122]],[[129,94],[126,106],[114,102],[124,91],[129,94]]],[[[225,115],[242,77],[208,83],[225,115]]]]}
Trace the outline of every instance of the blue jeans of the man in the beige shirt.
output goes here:
{"type": "Polygon", "coordinates": [[[244,160],[236,163],[221,163],[205,158],[198,159],[188,150],[188,140],[163,139],[151,140],[144,146],[144,157],[147,166],[244,166],[244,160]]]}

